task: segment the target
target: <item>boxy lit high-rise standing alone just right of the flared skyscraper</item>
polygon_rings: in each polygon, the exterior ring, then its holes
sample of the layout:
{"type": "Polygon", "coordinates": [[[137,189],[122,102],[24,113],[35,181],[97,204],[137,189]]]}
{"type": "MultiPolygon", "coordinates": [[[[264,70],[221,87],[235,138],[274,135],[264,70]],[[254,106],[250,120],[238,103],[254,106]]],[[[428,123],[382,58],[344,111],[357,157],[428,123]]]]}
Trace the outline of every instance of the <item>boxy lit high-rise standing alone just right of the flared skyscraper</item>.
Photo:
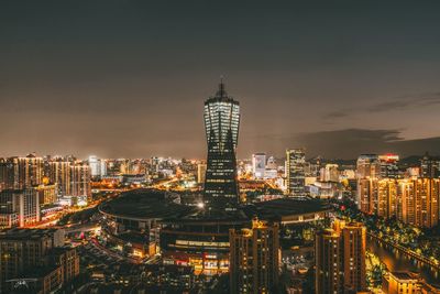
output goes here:
{"type": "Polygon", "coordinates": [[[305,176],[306,153],[304,149],[286,151],[286,187],[287,194],[294,197],[306,195],[305,176]]]}

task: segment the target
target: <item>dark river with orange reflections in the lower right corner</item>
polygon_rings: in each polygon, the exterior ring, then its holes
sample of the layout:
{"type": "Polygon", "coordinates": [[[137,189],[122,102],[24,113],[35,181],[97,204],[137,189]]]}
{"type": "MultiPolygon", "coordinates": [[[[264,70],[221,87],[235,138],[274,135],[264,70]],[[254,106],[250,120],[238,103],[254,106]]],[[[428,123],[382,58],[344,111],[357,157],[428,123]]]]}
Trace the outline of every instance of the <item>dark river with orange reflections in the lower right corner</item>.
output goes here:
{"type": "Polygon", "coordinates": [[[371,237],[366,238],[366,247],[386,264],[389,271],[418,272],[428,283],[440,284],[440,274],[436,269],[410,259],[408,255],[371,237]]]}

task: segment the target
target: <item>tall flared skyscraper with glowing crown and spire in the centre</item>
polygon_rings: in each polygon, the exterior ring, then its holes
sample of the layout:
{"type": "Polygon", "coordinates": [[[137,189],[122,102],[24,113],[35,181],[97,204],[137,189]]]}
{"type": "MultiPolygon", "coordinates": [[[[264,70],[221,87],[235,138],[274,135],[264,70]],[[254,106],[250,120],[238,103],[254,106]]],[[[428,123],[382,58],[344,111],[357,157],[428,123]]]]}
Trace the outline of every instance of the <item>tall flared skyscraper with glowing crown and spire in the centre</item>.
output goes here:
{"type": "Polygon", "coordinates": [[[213,97],[205,101],[208,161],[206,200],[233,208],[239,202],[235,149],[239,140],[240,104],[228,96],[221,81],[213,97]]]}

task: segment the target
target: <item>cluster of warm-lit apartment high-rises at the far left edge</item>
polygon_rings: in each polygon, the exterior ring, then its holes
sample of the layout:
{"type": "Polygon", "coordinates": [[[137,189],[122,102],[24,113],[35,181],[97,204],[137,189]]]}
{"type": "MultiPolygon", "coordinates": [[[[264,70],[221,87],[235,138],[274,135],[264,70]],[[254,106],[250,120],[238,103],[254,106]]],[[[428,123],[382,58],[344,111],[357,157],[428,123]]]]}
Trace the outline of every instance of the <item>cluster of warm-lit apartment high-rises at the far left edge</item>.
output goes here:
{"type": "Polygon", "coordinates": [[[90,199],[90,170],[87,163],[66,157],[0,160],[0,227],[26,227],[42,219],[41,209],[63,197],[90,199]]]}

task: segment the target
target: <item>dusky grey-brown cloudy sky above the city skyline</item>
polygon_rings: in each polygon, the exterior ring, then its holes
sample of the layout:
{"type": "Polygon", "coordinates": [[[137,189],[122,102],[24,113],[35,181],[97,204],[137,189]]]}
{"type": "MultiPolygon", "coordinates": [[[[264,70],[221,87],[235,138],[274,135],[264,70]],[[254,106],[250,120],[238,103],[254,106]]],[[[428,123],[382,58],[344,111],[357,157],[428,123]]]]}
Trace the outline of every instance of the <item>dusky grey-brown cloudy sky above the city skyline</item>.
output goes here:
{"type": "Polygon", "coordinates": [[[239,157],[440,153],[440,1],[16,0],[0,156],[202,159],[221,75],[239,157]]]}

